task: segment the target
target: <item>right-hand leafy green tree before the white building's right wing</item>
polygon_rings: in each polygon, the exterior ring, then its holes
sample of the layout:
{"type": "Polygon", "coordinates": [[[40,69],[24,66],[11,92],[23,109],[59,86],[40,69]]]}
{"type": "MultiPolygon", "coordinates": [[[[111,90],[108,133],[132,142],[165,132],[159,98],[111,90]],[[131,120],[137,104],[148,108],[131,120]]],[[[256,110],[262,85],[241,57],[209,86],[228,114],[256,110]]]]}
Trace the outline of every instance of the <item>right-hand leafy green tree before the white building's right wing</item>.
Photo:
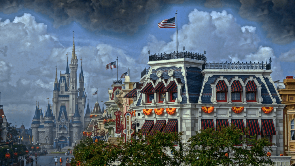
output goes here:
{"type": "MultiPolygon", "coordinates": [[[[248,129],[246,128],[245,131],[248,129]]],[[[265,151],[268,149],[272,152],[270,147],[272,143],[264,138],[255,138],[256,136],[246,138],[245,132],[233,124],[228,127],[221,126],[216,131],[214,128],[201,130],[188,141],[185,149],[185,164],[192,166],[273,165],[273,161],[265,151]]]]}

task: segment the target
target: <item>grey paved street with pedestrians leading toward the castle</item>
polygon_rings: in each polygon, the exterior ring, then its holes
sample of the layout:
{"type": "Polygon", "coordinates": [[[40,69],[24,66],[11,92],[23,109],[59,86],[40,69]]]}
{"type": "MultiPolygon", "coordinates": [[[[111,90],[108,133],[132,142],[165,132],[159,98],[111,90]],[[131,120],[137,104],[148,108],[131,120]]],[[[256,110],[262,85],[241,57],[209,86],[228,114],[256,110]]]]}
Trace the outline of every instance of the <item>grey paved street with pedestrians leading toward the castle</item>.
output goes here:
{"type": "MultiPolygon", "coordinates": [[[[60,157],[62,157],[63,159],[63,164],[62,166],[65,166],[66,160],[65,160],[65,154],[46,154],[46,156],[38,156],[37,160],[38,160],[38,166],[54,166],[54,159],[53,157],[57,156],[58,157],[58,166],[60,165],[59,163],[59,159],[60,157]]],[[[68,156],[69,158],[71,158],[72,156],[68,156]]],[[[35,158],[34,158],[34,162],[33,162],[33,166],[35,166],[35,158]]],[[[26,166],[31,166],[31,163],[27,164],[26,166]]]]}

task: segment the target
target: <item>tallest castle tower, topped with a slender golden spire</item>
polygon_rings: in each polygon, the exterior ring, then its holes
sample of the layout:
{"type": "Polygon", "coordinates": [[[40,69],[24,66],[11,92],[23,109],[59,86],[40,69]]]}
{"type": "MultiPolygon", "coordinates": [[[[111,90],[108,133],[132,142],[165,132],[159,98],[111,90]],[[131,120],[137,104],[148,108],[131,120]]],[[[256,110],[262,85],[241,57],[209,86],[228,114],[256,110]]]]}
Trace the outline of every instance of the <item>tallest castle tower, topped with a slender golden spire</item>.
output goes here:
{"type": "Polygon", "coordinates": [[[77,97],[78,97],[78,89],[77,89],[77,69],[78,69],[78,59],[77,55],[75,53],[75,36],[73,36],[73,51],[72,51],[72,57],[71,57],[71,64],[70,64],[70,83],[69,83],[69,106],[70,110],[68,110],[69,113],[69,119],[72,119],[72,116],[74,115],[73,110],[77,103],[77,97]]]}

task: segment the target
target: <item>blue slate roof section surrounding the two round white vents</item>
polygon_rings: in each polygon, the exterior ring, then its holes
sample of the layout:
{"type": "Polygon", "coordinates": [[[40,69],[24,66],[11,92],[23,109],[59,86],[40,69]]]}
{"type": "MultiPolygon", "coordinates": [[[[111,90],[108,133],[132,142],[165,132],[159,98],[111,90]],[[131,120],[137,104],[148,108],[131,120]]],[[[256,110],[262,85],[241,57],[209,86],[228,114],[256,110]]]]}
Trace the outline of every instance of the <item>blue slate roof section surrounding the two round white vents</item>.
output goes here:
{"type": "MultiPolygon", "coordinates": [[[[153,69],[152,70],[152,74],[150,74],[150,79],[153,79],[153,80],[157,80],[159,79],[159,77],[157,76],[157,71],[161,70],[163,71],[163,79],[169,79],[170,76],[168,75],[168,70],[174,70],[174,77],[175,78],[180,78],[181,80],[181,83],[184,84],[184,77],[182,76],[182,72],[181,72],[181,67],[176,67],[176,66],[170,66],[170,67],[160,67],[158,69],[153,69]]],[[[181,92],[181,97],[182,97],[182,101],[180,102],[181,104],[186,104],[187,103],[187,99],[186,99],[186,88],[182,88],[182,92],[181,92]]],[[[138,100],[140,101],[140,100],[138,100]]]]}

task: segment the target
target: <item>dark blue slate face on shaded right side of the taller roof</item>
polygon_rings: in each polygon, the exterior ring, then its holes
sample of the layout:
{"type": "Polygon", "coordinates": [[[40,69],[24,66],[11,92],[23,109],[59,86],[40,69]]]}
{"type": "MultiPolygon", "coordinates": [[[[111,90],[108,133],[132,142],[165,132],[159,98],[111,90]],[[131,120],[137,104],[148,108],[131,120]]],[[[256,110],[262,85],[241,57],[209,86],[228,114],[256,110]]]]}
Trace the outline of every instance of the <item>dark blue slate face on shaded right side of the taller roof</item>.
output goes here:
{"type": "Polygon", "coordinates": [[[190,66],[189,68],[186,67],[186,71],[187,88],[189,91],[189,103],[197,103],[199,100],[202,85],[201,69],[190,66]]]}

